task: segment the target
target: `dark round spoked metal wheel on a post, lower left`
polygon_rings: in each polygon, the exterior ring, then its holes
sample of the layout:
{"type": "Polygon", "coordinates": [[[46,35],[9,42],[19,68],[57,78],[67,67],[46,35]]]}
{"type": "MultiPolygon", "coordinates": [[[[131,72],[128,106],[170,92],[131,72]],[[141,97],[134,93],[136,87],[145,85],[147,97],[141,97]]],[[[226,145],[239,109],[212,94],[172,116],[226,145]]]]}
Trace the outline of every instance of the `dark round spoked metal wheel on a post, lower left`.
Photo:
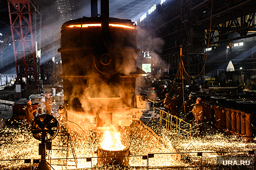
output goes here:
{"type": "Polygon", "coordinates": [[[31,132],[37,140],[50,141],[58,135],[60,125],[58,120],[51,115],[41,115],[34,119],[31,132]],[[42,139],[45,136],[45,139],[42,139]]]}

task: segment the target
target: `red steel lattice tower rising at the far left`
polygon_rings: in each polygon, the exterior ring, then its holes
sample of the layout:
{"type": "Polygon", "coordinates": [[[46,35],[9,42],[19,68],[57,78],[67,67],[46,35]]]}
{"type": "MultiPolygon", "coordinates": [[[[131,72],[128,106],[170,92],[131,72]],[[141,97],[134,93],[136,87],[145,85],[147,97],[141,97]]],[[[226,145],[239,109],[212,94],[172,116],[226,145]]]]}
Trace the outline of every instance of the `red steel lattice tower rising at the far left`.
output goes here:
{"type": "Polygon", "coordinates": [[[29,0],[8,0],[17,83],[23,78],[37,82],[35,44],[29,0]]]}

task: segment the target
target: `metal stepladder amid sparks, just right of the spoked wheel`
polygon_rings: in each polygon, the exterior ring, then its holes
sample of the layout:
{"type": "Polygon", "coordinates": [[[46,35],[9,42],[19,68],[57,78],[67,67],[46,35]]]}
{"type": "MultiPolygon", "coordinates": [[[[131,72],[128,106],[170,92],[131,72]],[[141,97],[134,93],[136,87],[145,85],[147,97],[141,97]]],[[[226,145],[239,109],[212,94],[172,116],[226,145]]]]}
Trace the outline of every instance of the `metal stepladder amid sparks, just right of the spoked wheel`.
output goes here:
{"type": "MultiPolygon", "coordinates": [[[[76,167],[77,168],[77,158],[74,150],[74,146],[72,143],[72,139],[69,133],[61,133],[59,132],[58,136],[56,136],[55,140],[52,141],[52,149],[48,152],[49,163],[52,166],[62,166],[62,168],[67,167],[76,167]],[[67,159],[69,153],[73,155],[73,159],[67,159]],[[63,155],[61,158],[65,159],[51,159],[54,154],[63,155]],[[72,164],[68,164],[71,163],[72,164]]],[[[58,156],[59,157],[59,156],[58,156]]]]}

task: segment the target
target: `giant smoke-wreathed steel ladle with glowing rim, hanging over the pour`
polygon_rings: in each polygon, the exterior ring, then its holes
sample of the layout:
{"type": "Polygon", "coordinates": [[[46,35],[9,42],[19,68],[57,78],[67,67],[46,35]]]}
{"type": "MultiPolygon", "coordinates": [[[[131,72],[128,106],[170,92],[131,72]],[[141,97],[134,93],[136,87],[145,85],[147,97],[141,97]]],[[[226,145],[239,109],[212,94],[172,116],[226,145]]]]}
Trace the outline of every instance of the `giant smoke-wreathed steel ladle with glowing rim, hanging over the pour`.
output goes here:
{"type": "MultiPolygon", "coordinates": [[[[70,128],[99,131],[129,126],[146,108],[147,95],[135,94],[137,68],[136,24],[109,18],[108,0],[100,17],[67,21],[61,31],[64,104],[59,113],[70,128]]],[[[96,8],[97,9],[97,8],[96,8]]]]}

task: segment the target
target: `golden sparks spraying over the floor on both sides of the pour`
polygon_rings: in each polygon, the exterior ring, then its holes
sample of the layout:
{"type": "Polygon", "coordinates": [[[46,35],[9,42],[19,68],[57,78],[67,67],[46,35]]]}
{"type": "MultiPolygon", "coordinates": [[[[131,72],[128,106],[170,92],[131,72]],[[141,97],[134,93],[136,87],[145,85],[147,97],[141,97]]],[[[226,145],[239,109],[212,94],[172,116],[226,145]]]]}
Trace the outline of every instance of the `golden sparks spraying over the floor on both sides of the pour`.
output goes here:
{"type": "MultiPolygon", "coordinates": [[[[214,152],[203,153],[203,165],[215,165],[217,155],[241,155],[247,153],[216,153],[231,151],[251,151],[256,148],[256,143],[247,143],[244,139],[237,136],[225,136],[223,134],[207,135],[202,137],[192,137],[181,134],[177,136],[175,132],[171,132],[161,126],[152,126],[154,132],[163,140],[157,139],[149,130],[141,126],[138,122],[132,124],[129,130],[129,151],[130,155],[148,155],[148,153],[171,153],[171,154],[154,154],[153,158],[149,158],[149,166],[195,166],[194,161],[201,160],[196,152],[214,152]],[[195,147],[193,147],[192,145],[195,147]],[[190,146],[189,146],[190,145],[190,146]],[[189,146],[189,147],[188,147],[189,146]],[[186,152],[186,153],[185,153],[186,152]],[[191,153],[188,153],[191,152],[191,153]],[[195,153],[192,153],[195,152],[195,153]],[[181,153],[181,159],[177,160],[181,153]]],[[[97,157],[97,149],[102,142],[103,133],[92,130],[93,127],[88,126],[87,129],[70,130],[70,138],[72,140],[73,149],[77,158],[81,157],[97,157]]],[[[195,132],[194,132],[195,133],[195,132]]],[[[122,136],[123,134],[121,134],[122,136]]],[[[67,136],[57,136],[53,140],[53,149],[63,149],[67,146],[67,136]]],[[[0,131],[0,160],[10,159],[40,159],[38,155],[38,144],[30,131],[25,128],[5,128],[0,131]]],[[[127,146],[127,145],[126,145],[127,146]]],[[[72,148],[66,151],[52,150],[47,152],[46,158],[74,158],[72,148]],[[68,154],[67,154],[68,153],[68,154]]],[[[56,160],[51,160],[53,165],[56,160]]],[[[65,161],[63,164],[65,164],[65,161]]],[[[92,158],[92,162],[86,162],[86,159],[77,159],[77,169],[87,169],[97,165],[97,158],[92,158]]],[[[74,165],[74,159],[68,159],[67,165],[74,165]]],[[[28,167],[24,161],[0,161],[1,170],[22,169],[28,167]]],[[[129,157],[129,166],[147,166],[147,160],[143,160],[142,156],[129,157]]],[[[55,170],[75,169],[73,166],[53,166],[55,170]]],[[[120,168],[121,169],[121,168],[120,168]]],[[[106,168],[104,170],[107,170],[106,168]]]]}

